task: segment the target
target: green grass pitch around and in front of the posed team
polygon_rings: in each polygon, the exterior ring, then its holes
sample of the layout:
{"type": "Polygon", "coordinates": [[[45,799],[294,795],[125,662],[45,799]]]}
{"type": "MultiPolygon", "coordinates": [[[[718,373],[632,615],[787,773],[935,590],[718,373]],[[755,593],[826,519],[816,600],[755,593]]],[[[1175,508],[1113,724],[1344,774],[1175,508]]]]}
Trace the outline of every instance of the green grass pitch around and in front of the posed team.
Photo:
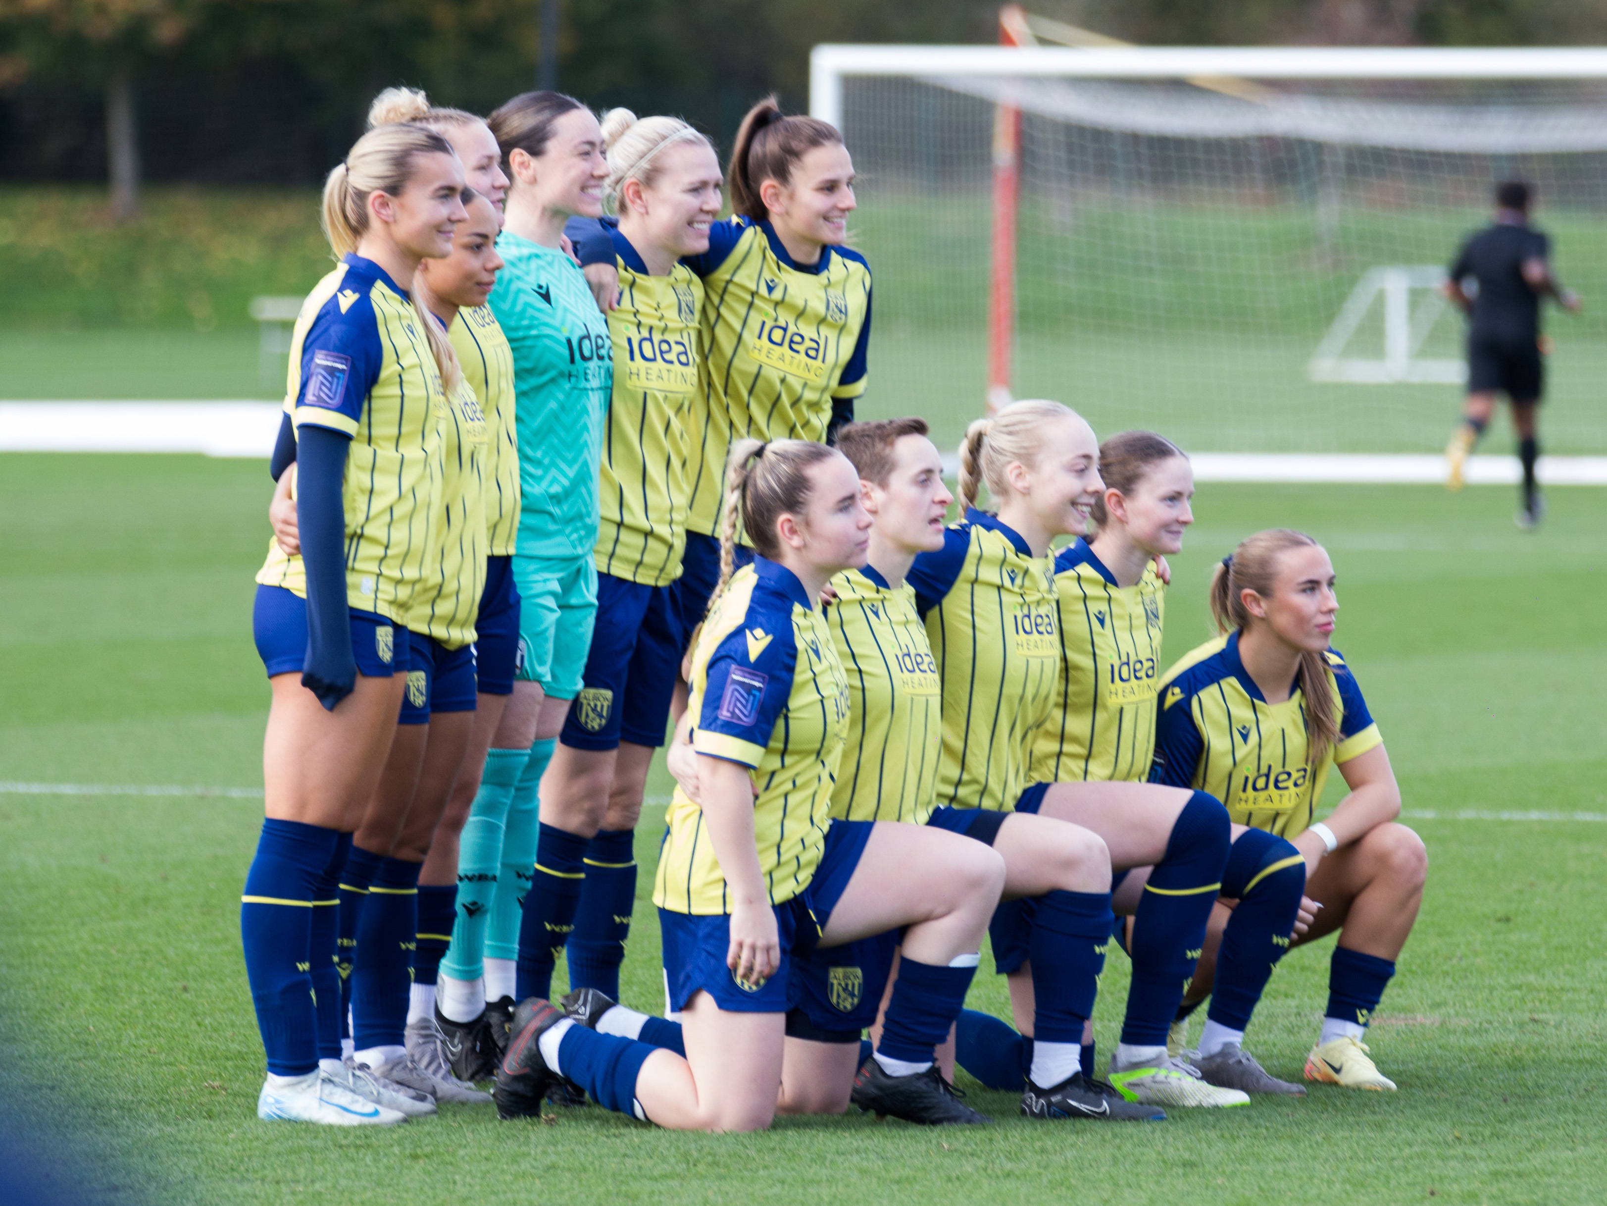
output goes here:
{"type": "MultiPolygon", "coordinates": [[[[267,685],[251,577],[254,461],[0,457],[0,781],[260,785],[267,685]]],[[[8,1085],[67,1119],[88,1200],[1556,1203],[1607,1196],[1607,825],[1454,820],[1607,812],[1607,535],[1591,490],[1535,534],[1509,490],[1204,487],[1176,558],[1168,656],[1207,635],[1213,561],[1294,524],[1340,574],[1350,658],[1430,851],[1422,920],[1371,1040],[1401,1090],[1178,1111],[1160,1126],[996,1119],[935,1132],[863,1118],[678,1135],[588,1108],[550,1124],[445,1108],[384,1134],[265,1126],[238,897],[251,799],[0,794],[0,1047],[8,1085]]],[[[656,793],[665,791],[657,775],[656,793]]],[[[1332,799],[1329,801],[1332,802],[1332,799]]],[[[630,1003],[660,1007],[643,820],[630,1003]]],[[[1298,1076],[1326,954],[1273,978],[1253,1050],[1298,1076]]],[[[1127,962],[1096,1019],[1115,1040],[1127,962]]],[[[972,992],[1004,1008],[983,960],[972,992]]],[[[0,1198],[5,1195],[0,1193],[0,1198]]]]}

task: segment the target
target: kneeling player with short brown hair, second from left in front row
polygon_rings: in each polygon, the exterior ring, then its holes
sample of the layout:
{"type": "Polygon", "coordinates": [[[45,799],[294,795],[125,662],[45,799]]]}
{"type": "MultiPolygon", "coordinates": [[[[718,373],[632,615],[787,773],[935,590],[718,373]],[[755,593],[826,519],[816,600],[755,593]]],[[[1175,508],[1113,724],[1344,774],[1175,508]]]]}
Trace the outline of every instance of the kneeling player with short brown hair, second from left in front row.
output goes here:
{"type": "MultiPolygon", "coordinates": [[[[837,447],[860,473],[871,513],[866,564],[832,580],[826,621],[848,675],[850,724],[837,772],[834,822],[908,822],[963,833],[1004,859],[1004,897],[1032,897],[1032,968],[1038,1029],[1032,1084],[1022,1097],[1028,1118],[1163,1119],[1083,1077],[1077,1037],[1093,1013],[1110,936],[1110,860],[1104,843],[1073,825],[995,809],[937,809],[943,751],[943,682],[906,582],[921,556],[938,555],[953,502],[937,447],[919,418],[850,423],[837,447]],[[1075,1037],[1057,1045],[1051,1034],[1075,1037]]],[[[866,1064],[855,1082],[860,1032],[876,1021],[898,949],[897,931],[823,947],[794,963],[799,1003],[787,1013],[787,1076],[824,1097],[783,1101],[792,1113],[840,1113],[850,1090],[876,1106],[887,1082],[866,1064]]]]}

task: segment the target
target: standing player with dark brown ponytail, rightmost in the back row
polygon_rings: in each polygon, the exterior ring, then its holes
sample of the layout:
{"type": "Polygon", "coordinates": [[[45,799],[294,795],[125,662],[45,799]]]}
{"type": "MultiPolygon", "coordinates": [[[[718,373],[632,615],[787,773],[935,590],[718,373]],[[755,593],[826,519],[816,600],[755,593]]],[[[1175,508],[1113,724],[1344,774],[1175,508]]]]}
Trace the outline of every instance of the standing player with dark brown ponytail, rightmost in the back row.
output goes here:
{"type": "MultiPolygon", "coordinates": [[[[704,283],[709,359],[688,431],[691,490],[681,609],[688,627],[720,574],[726,450],[736,439],[826,441],[865,394],[871,269],[844,246],[853,161],[836,127],[783,116],[775,96],[742,119],[726,172],[733,215],[686,265],[704,283]]],[[[614,248],[572,227],[575,251],[604,307],[614,304],[614,248]]],[[[746,548],[738,558],[746,561],[746,548]]]]}

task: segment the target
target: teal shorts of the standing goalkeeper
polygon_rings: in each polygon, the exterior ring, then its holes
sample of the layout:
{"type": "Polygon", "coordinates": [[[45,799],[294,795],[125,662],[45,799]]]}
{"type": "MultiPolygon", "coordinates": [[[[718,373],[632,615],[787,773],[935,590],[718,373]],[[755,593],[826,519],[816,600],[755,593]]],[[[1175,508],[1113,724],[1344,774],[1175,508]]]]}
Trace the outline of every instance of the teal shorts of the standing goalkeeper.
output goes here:
{"type": "Polygon", "coordinates": [[[554,699],[574,699],[587,669],[598,611],[598,571],[585,556],[513,558],[519,587],[519,664],[514,677],[542,685],[554,699]]]}

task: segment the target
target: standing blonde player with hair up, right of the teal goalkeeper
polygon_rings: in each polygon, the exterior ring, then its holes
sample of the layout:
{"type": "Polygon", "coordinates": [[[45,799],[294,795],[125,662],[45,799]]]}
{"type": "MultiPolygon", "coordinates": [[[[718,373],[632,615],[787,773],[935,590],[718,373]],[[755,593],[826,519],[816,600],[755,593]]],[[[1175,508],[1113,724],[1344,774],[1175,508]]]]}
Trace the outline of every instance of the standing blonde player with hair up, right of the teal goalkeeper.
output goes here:
{"type": "Polygon", "coordinates": [[[636,902],[636,818],[686,648],[677,579],[686,547],[686,425],[702,373],[702,283],[683,257],[709,248],[720,161],[678,117],[636,121],[614,109],[603,138],[604,206],[619,214],[607,236],[620,296],[607,315],[614,396],[593,555],[598,614],[583,685],[542,786],[537,876],[546,910],[525,913],[521,999],[551,994],[566,939],[570,989],[619,997],[636,902]]]}

